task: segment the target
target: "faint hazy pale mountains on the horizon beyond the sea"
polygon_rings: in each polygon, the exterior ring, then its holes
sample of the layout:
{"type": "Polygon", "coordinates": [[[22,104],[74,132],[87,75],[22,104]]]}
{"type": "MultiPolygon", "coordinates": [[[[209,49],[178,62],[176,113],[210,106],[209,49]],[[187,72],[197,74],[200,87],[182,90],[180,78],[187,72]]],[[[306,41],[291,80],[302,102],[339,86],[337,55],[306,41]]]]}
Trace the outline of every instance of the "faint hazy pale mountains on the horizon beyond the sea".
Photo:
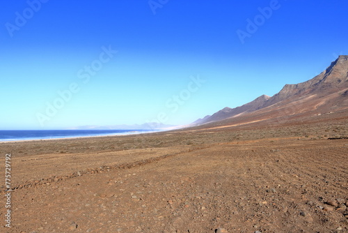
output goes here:
{"type": "Polygon", "coordinates": [[[178,128],[173,125],[166,125],[163,123],[143,123],[134,125],[115,125],[115,126],[78,126],[72,128],[74,130],[170,130],[178,128]]]}

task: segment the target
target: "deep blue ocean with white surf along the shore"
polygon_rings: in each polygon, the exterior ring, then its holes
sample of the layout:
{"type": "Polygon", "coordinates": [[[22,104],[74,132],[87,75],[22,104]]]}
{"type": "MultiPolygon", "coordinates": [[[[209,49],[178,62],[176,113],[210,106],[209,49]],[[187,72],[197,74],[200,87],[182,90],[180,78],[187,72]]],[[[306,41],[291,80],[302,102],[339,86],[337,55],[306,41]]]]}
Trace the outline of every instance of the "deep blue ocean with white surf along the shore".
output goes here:
{"type": "Polygon", "coordinates": [[[150,133],[154,130],[0,130],[0,142],[150,133]]]}

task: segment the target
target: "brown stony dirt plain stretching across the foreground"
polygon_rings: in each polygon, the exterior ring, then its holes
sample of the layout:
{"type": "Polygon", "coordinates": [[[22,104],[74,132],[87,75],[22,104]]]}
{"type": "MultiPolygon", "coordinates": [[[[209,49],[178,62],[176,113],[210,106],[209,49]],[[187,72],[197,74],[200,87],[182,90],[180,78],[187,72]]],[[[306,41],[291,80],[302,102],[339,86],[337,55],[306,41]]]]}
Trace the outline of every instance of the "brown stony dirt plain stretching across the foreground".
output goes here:
{"type": "Polygon", "coordinates": [[[0,232],[348,232],[347,117],[322,119],[2,143],[0,232]]]}

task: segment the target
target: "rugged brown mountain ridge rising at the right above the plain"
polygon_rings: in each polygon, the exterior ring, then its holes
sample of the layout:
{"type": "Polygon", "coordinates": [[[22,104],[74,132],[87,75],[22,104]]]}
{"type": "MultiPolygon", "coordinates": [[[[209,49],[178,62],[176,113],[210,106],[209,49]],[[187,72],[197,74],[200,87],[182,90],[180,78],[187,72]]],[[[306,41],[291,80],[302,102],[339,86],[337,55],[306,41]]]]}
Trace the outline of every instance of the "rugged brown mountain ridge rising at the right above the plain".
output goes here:
{"type": "Polygon", "coordinates": [[[262,95],[239,107],[225,107],[219,112],[194,121],[189,126],[199,126],[251,114],[270,119],[303,112],[320,114],[347,108],[348,56],[342,55],[311,80],[299,84],[286,84],[274,96],[262,95]]]}

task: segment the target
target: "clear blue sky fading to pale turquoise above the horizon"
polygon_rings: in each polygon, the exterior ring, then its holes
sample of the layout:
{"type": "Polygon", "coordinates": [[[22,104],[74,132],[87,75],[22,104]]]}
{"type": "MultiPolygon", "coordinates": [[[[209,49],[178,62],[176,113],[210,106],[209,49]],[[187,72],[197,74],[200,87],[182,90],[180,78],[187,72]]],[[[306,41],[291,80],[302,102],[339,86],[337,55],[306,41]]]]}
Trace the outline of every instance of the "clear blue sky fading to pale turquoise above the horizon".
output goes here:
{"type": "Polygon", "coordinates": [[[6,1],[0,129],[179,125],[272,96],[348,54],[347,9],[346,0],[6,1]]]}

